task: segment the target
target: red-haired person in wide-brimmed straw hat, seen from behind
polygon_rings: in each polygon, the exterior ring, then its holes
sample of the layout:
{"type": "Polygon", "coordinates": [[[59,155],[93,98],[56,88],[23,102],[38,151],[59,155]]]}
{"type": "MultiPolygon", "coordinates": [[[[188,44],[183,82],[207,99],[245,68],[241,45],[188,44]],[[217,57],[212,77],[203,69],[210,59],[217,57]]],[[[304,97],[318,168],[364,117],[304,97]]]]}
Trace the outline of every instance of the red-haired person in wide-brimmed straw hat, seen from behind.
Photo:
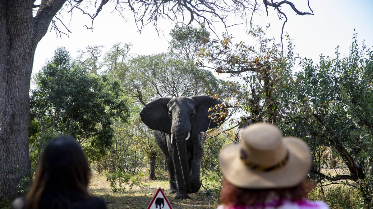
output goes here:
{"type": "Polygon", "coordinates": [[[307,144],[283,137],[269,123],[249,125],[241,144],[220,151],[224,181],[218,209],[329,209],[307,199],[312,189],[307,173],[312,157],[307,144]]]}

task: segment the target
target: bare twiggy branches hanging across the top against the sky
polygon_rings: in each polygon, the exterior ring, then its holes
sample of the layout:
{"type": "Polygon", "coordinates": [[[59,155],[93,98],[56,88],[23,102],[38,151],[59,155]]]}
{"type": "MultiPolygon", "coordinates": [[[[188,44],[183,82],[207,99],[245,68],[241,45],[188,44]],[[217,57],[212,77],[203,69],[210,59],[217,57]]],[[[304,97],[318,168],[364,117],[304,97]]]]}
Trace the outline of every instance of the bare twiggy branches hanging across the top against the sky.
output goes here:
{"type": "MultiPolygon", "coordinates": [[[[84,1],[84,0],[58,0],[60,3],[66,2],[66,7],[68,7],[68,12],[71,13],[74,9],[80,10],[84,15],[87,15],[91,19],[90,24],[84,25],[87,29],[93,30],[94,19],[102,11],[104,5],[106,5],[109,0],[95,0],[93,1],[84,1]],[[85,2],[85,5],[82,3],[85,2]],[[98,4],[99,2],[99,4],[98,4]],[[92,11],[92,6],[95,8],[95,12],[92,11]]],[[[43,2],[47,2],[43,0],[43,2]]],[[[43,2],[40,5],[40,9],[44,9],[43,2]]],[[[189,26],[193,22],[198,24],[205,24],[206,28],[210,28],[216,36],[214,24],[220,22],[225,27],[226,32],[227,28],[248,24],[250,22],[250,27],[253,26],[253,15],[258,10],[260,10],[261,4],[257,0],[112,0],[115,4],[113,11],[117,11],[123,19],[127,20],[125,13],[130,10],[133,14],[135,24],[139,32],[142,31],[145,25],[152,23],[155,26],[157,32],[161,30],[158,28],[157,23],[159,19],[169,19],[175,22],[176,24],[181,24],[183,26],[189,26]],[[243,23],[233,23],[228,24],[227,17],[229,15],[234,15],[243,20],[243,23]]],[[[273,1],[263,0],[263,4],[266,7],[266,12],[268,15],[268,7],[273,7],[278,10],[279,18],[285,17],[285,22],[283,28],[287,21],[285,13],[280,10],[280,6],[283,4],[289,5],[294,12],[298,15],[313,15],[309,12],[301,12],[298,10],[294,3],[291,1],[280,1],[274,3],[273,1]]],[[[307,1],[309,6],[309,0],[307,1]]],[[[37,6],[37,5],[35,5],[37,6]]],[[[61,4],[62,6],[62,4],[61,4]]],[[[60,6],[60,7],[61,7],[60,6]]],[[[59,7],[59,8],[60,8],[59,7]]],[[[309,6],[310,8],[310,6],[309,6]]],[[[312,10],[311,10],[312,11],[312,10]]],[[[58,10],[54,12],[56,14],[58,10]]],[[[58,19],[61,23],[62,21],[58,19]]],[[[63,23],[62,23],[63,24],[63,23]]],[[[64,25],[64,24],[63,24],[64,25]]],[[[64,25],[67,29],[66,25],[64,25]]],[[[54,24],[54,28],[58,29],[57,25],[54,24]]],[[[283,37],[283,28],[282,35],[283,37]]],[[[59,35],[68,34],[70,31],[61,32],[59,30],[59,35]]]]}

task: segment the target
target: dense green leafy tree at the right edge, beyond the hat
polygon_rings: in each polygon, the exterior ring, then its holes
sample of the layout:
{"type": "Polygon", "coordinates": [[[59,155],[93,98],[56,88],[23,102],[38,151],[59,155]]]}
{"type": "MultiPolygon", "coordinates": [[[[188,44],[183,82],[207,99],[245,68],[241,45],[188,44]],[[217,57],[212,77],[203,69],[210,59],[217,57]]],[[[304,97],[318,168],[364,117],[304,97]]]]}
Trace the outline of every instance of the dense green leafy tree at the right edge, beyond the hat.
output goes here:
{"type": "Polygon", "coordinates": [[[347,56],[341,57],[337,48],[335,58],[321,55],[317,64],[303,58],[300,65],[303,70],[295,74],[291,117],[284,120],[284,129],[299,127],[292,132],[316,147],[316,166],[311,171],[317,181],[355,181],[364,202],[371,203],[373,51],[365,45],[359,49],[354,33],[347,56]],[[347,172],[332,175],[321,171],[320,144],[339,155],[347,172]]]}

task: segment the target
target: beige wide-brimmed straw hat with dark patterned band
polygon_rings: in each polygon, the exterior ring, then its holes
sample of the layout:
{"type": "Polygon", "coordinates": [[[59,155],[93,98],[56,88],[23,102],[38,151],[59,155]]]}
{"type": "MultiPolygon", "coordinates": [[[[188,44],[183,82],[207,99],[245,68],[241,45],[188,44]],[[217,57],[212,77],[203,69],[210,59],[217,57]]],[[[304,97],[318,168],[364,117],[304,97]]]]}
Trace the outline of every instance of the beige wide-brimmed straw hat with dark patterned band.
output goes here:
{"type": "Polygon", "coordinates": [[[236,187],[270,189],[294,187],[307,175],[312,158],[307,144],[283,137],[269,123],[256,123],[242,131],[241,144],[219,154],[224,177],[236,187]]]}

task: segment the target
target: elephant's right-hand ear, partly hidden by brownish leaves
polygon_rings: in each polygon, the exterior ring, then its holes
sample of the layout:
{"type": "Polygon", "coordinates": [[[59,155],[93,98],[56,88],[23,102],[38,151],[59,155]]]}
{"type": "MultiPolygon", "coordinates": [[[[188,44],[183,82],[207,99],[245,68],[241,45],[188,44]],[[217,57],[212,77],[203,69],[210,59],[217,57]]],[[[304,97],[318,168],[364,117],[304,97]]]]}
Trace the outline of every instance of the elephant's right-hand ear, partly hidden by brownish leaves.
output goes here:
{"type": "Polygon", "coordinates": [[[198,103],[196,108],[197,113],[195,114],[192,128],[193,135],[198,135],[201,131],[205,132],[209,128],[215,128],[220,124],[220,122],[224,121],[225,118],[222,118],[222,120],[219,121],[214,121],[209,118],[209,115],[213,113],[209,112],[210,107],[220,104],[221,102],[219,100],[214,99],[211,96],[192,96],[191,98],[198,103]]]}

